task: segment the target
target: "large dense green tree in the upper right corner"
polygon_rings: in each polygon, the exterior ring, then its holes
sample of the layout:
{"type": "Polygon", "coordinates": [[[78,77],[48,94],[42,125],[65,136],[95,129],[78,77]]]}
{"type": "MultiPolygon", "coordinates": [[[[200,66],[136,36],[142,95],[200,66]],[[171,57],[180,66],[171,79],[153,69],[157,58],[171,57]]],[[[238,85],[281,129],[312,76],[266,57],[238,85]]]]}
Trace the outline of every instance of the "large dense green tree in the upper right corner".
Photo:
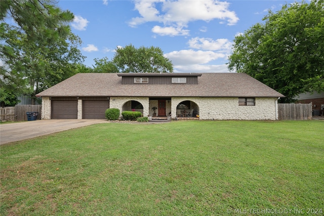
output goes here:
{"type": "Polygon", "coordinates": [[[234,39],[228,68],[246,73],[292,102],[305,91],[324,91],[324,1],[269,11],[234,39]]]}

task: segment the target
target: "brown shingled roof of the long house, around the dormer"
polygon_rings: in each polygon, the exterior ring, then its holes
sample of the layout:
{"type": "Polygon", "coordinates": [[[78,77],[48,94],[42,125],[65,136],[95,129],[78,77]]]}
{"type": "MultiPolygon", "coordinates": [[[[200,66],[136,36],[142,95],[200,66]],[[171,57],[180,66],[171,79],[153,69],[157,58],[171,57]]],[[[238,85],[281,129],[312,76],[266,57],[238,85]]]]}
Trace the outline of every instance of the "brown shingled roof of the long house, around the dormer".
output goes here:
{"type": "Polygon", "coordinates": [[[285,97],[242,73],[76,74],[37,94],[55,96],[285,97]],[[121,84],[120,76],[197,76],[198,84],[121,84]]]}

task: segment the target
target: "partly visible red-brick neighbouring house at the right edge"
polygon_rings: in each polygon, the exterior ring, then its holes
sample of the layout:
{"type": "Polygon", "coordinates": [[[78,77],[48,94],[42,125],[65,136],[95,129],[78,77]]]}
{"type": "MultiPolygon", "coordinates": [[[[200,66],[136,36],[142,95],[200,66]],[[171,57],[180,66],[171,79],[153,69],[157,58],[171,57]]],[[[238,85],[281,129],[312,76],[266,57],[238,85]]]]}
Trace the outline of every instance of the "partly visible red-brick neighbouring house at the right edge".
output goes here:
{"type": "Polygon", "coordinates": [[[297,103],[312,103],[312,115],[324,116],[324,92],[302,93],[295,99],[297,103]]]}

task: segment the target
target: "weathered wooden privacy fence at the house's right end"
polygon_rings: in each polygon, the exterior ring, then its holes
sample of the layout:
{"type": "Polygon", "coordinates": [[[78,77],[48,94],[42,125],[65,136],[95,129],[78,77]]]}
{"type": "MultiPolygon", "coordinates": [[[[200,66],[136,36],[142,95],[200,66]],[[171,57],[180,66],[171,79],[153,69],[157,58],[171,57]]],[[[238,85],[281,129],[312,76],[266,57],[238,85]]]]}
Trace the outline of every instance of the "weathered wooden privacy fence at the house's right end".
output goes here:
{"type": "Polygon", "coordinates": [[[311,118],[311,103],[278,103],[279,120],[310,120],[311,118]]]}

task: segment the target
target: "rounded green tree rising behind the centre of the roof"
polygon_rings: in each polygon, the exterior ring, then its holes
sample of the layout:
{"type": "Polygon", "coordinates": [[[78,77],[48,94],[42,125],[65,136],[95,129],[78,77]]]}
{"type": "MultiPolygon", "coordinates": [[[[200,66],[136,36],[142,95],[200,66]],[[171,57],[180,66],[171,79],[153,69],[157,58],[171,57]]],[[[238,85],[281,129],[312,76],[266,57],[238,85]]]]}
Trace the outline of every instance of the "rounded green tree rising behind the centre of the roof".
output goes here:
{"type": "Polygon", "coordinates": [[[112,62],[121,73],[172,73],[172,62],[157,47],[117,47],[112,62]]]}

